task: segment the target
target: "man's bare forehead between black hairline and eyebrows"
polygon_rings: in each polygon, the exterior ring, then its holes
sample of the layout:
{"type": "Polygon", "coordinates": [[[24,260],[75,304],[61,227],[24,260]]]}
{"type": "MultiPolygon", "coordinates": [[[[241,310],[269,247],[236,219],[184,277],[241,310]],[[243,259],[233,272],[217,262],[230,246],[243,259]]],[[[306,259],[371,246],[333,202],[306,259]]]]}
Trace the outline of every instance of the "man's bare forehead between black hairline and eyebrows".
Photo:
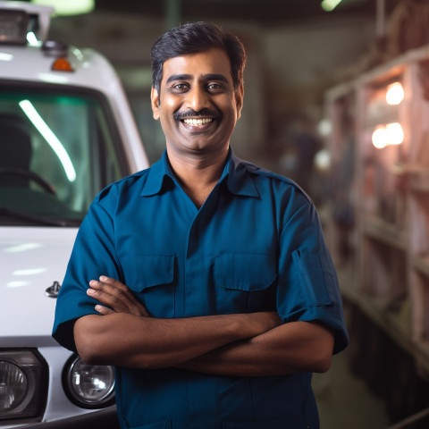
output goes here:
{"type": "Polygon", "coordinates": [[[198,54],[170,58],[163,65],[162,82],[175,75],[189,75],[195,79],[210,74],[220,74],[232,81],[230,58],[223,49],[212,48],[198,54]]]}

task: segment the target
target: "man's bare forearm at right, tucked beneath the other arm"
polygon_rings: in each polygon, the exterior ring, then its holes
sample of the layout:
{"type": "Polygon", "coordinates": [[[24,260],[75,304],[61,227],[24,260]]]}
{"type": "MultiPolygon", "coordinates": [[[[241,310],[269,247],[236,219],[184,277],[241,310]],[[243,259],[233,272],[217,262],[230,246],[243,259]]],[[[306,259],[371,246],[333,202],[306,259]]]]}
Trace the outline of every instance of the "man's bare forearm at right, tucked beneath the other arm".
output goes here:
{"type": "Polygon", "coordinates": [[[331,365],[333,336],[319,324],[282,324],[180,365],[191,371],[227,376],[270,376],[325,372],[331,365]]]}

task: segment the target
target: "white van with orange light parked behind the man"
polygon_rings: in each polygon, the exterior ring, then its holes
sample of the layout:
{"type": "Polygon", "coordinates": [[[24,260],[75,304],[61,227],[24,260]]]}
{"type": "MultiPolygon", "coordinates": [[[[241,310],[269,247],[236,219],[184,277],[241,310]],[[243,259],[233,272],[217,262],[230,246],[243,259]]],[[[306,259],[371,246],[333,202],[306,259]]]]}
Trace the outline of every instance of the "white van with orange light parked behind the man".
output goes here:
{"type": "Polygon", "coordinates": [[[0,1],[0,429],[114,423],[113,368],[52,339],[55,298],[92,199],[148,166],[114,69],[46,41],[53,12],[0,1]]]}

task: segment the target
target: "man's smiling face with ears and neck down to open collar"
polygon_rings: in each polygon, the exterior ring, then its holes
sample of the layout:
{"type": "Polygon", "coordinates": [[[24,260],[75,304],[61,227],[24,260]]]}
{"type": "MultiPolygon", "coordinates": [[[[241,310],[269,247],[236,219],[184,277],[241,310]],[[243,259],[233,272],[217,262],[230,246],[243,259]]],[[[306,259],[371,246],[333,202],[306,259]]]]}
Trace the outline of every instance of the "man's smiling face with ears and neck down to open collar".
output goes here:
{"type": "Polygon", "coordinates": [[[212,47],[166,60],[163,79],[156,87],[152,109],[164,130],[168,159],[199,208],[219,180],[228,156],[243,103],[242,80],[234,85],[227,53],[212,47]]]}

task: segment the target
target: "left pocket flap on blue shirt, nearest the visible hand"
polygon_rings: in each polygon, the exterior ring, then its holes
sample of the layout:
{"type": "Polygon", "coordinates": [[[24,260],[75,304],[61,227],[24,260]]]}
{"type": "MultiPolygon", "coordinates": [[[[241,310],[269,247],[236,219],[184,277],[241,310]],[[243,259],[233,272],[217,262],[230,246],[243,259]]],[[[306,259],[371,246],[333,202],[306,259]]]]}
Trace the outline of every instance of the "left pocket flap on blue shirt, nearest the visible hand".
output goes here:
{"type": "Polygon", "coordinates": [[[125,282],[131,290],[141,292],[174,281],[174,255],[126,255],[121,262],[125,282]]]}

